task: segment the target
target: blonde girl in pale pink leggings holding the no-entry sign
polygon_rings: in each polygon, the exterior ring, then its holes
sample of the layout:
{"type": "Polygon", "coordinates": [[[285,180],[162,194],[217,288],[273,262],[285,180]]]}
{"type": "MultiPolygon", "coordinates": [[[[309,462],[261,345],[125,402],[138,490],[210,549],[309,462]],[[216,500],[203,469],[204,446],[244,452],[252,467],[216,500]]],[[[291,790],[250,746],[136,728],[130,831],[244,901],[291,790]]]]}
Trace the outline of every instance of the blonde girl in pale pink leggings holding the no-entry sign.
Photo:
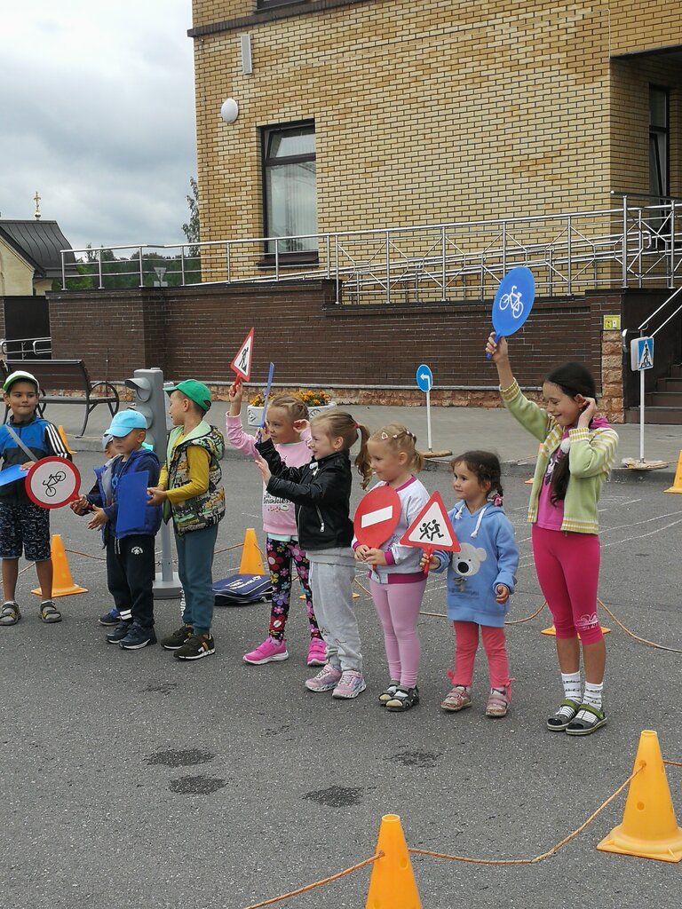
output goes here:
{"type": "MultiPolygon", "coordinates": [[[[378,549],[353,541],[356,559],[371,565],[369,589],[384,628],[390,681],[379,701],[386,710],[409,710],[419,703],[416,674],[420,645],[416,620],[424,598],[426,574],[419,567],[420,550],[398,541],[428,501],[416,479],[424,458],[416,451],[416,435],[405,426],[388,425],[369,437],[367,450],[377,485],[391,486],[400,498],[400,518],[393,534],[378,549]]],[[[374,487],[376,488],[376,486],[374,487]]]]}

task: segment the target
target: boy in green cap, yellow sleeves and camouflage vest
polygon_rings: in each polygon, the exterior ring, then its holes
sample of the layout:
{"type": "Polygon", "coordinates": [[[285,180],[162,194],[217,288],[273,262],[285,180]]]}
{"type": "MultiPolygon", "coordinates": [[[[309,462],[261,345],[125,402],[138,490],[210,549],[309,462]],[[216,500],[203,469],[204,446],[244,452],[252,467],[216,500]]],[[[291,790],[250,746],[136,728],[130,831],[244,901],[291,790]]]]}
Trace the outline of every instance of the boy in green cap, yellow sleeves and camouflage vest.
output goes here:
{"type": "Polygon", "coordinates": [[[167,521],[173,515],[177,571],[185,593],[182,628],[161,645],[178,660],[200,660],[216,653],[213,621],[213,554],[218,523],[225,515],[225,490],[220,458],[223,434],[206,423],[211,393],[196,379],[166,388],[173,425],[158,486],[149,489],[151,504],[164,505],[167,521]]]}

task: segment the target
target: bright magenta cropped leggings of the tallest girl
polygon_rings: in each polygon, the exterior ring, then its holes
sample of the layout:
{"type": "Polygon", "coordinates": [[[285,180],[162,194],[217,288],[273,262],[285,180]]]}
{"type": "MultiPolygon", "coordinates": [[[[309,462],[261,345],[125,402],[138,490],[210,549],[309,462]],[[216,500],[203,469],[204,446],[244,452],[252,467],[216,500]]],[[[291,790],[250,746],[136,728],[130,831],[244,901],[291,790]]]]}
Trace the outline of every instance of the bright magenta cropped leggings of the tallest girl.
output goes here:
{"type": "Polygon", "coordinates": [[[596,644],[604,636],[597,619],[597,534],[564,533],[533,524],[533,555],[557,637],[579,634],[583,644],[596,644]]]}

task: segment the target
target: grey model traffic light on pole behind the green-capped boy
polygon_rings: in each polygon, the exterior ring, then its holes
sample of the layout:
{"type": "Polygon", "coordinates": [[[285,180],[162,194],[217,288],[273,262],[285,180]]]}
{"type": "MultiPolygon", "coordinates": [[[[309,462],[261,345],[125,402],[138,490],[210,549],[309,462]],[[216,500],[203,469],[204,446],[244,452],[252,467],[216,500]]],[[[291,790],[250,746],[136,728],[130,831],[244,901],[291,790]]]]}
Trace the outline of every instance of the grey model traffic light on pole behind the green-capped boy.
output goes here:
{"type": "MultiPolygon", "coordinates": [[[[135,369],[132,379],[125,385],[135,392],[135,410],[145,417],[146,441],[152,445],[159,461],[165,461],[167,407],[164,391],[164,374],[160,369],[135,369]]],[[[180,577],[173,570],[173,545],[168,524],[161,524],[161,571],[154,581],[155,600],[176,600],[182,592],[180,577]]]]}

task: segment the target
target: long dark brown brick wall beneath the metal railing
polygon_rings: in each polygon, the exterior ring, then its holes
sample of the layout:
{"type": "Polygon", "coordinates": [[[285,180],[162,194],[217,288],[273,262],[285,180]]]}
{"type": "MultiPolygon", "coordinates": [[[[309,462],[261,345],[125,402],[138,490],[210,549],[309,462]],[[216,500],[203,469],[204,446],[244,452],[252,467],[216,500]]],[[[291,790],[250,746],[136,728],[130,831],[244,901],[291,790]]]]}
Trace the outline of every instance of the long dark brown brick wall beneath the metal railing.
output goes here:
{"type": "MultiPolygon", "coordinates": [[[[351,403],[416,404],[416,366],[427,363],[440,386],[435,404],[498,405],[495,369],[483,353],[489,304],[337,306],[334,291],[325,281],[51,294],[53,355],[84,359],[93,378],[122,381],[137,368],[159,366],[175,381],[229,383],[229,364],[253,325],[256,385],[265,383],[272,360],[277,383],[336,388],[351,403]]],[[[649,311],[655,299],[648,297],[649,311]]],[[[512,343],[521,384],[541,385],[553,365],[580,360],[617,418],[619,334],[601,326],[602,316],[619,314],[622,305],[619,294],[537,300],[512,343]]]]}

